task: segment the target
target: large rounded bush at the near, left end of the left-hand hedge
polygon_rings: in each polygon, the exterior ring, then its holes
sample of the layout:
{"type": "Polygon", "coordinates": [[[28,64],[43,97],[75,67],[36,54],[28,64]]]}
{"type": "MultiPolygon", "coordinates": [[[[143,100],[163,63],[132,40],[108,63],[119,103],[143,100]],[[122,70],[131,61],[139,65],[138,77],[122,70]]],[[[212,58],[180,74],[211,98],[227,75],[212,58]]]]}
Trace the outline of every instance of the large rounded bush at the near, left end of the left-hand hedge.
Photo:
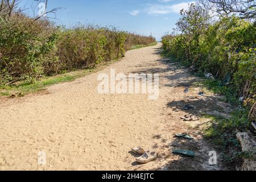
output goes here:
{"type": "Polygon", "coordinates": [[[15,15],[0,17],[0,25],[0,84],[42,75],[42,60],[55,59],[51,51],[57,37],[51,23],[15,15]]]}

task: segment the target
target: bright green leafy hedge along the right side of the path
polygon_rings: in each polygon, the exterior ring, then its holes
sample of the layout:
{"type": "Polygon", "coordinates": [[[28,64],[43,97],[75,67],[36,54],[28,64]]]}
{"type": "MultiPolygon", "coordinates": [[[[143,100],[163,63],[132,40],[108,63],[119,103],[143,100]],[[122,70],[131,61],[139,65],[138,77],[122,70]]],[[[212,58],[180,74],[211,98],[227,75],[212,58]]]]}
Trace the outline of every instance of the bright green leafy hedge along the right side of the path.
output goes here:
{"type": "Polygon", "coordinates": [[[182,18],[177,26],[182,24],[190,30],[182,31],[180,26],[178,30],[182,34],[163,36],[164,51],[193,65],[197,71],[212,73],[225,84],[233,86],[237,90],[236,96],[243,96],[252,106],[256,100],[255,23],[236,16],[222,17],[214,23],[209,19],[200,22],[206,17],[202,12],[195,5],[181,12],[182,18]]]}

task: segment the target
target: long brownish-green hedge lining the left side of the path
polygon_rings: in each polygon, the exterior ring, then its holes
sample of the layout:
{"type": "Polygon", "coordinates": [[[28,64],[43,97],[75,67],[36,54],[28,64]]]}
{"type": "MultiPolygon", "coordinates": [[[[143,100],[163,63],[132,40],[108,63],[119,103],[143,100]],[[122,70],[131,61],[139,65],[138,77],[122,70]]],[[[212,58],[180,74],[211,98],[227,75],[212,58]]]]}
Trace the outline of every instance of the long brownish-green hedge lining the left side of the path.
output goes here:
{"type": "Polygon", "coordinates": [[[124,56],[126,50],[137,44],[154,42],[151,36],[111,27],[66,29],[22,14],[0,16],[0,86],[17,80],[30,83],[45,75],[94,67],[124,56]]]}

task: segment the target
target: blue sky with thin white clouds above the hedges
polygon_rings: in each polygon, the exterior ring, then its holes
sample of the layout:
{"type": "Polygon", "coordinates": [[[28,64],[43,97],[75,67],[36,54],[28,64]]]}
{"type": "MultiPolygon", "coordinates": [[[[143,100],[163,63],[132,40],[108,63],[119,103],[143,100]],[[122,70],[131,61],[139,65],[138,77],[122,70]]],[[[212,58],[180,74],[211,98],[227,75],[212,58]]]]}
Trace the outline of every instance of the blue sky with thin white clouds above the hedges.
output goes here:
{"type": "MultiPolygon", "coordinates": [[[[33,0],[22,0],[26,13],[32,14],[33,0]]],[[[179,11],[187,8],[193,0],[49,0],[48,9],[57,11],[57,24],[67,27],[78,23],[94,23],[114,26],[119,30],[152,35],[157,39],[175,27],[179,11]]]]}

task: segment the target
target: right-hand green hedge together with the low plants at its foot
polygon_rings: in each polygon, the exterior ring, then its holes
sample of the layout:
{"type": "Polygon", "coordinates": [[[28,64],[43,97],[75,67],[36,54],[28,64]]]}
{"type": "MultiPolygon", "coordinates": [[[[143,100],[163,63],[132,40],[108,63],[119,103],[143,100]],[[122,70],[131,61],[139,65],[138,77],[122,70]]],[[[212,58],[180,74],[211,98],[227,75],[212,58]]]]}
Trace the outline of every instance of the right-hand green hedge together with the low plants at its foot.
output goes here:
{"type": "Polygon", "coordinates": [[[234,163],[248,156],[241,152],[236,133],[247,131],[249,120],[256,118],[256,23],[236,16],[211,23],[207,12],[196,6],[181,11],[177,23],[181,34],[163,36],[163,49],[179,63],[193,65],[199,75],[212,73],[215,81],[208,79],[203,84],[226,96],[226,102],[241,104],[238,97],[243,96],[245,107],[234,111],[231,118],[210,116],[213,123],[205,131],[205,137],[224,152],[226,162],[234,163]]]}

